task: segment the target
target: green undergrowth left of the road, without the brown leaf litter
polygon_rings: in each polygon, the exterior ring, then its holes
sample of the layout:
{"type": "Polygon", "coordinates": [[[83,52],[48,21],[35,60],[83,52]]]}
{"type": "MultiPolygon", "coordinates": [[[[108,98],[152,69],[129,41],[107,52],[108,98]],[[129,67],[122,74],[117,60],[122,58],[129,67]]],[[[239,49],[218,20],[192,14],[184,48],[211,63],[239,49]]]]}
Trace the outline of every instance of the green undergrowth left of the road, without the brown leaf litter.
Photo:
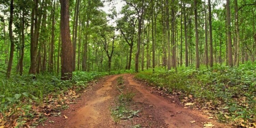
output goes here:
{"type": "Polygon", "coordinates": [[[0,115],[5,118],[20,112],[25,112],[24,116],[32,117],[33,115],[29,115],[32,111],[30,104],[40,106],[48,95],[58,98],[59,94],[64,94],[72,87],[76,87],[76,91],[83,90],[88,82],[107,73],[74,72],[72,81],[62,81],[58,76],[47,73],[16,75],[10,79],[5,79],[4,74],[0,75],[0,115]]]}

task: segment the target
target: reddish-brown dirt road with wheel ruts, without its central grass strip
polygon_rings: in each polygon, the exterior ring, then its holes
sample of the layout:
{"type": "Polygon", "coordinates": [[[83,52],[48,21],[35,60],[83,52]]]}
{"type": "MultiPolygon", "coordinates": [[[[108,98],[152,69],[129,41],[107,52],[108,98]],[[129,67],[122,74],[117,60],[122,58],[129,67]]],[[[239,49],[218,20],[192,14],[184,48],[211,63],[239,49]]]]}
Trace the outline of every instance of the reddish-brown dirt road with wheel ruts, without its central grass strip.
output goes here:
{"type": "Polygon", "coordinates": [[[87,87],[85,93],[61,112],[61,116],[49,117],[37,128],[228,128],[215,119],[209,119],[200,110],[180,104],[178,98],[159,95],[154,87],[134,79],[134,74],[110,75],[87,87]],[[114,123],[111,108],[120,94],[117,79],[123,76],[125,91],[134,92],[129,103],[139,116],[114,123]],[[65,115],[65,116],[64,116],[65,115]]]}

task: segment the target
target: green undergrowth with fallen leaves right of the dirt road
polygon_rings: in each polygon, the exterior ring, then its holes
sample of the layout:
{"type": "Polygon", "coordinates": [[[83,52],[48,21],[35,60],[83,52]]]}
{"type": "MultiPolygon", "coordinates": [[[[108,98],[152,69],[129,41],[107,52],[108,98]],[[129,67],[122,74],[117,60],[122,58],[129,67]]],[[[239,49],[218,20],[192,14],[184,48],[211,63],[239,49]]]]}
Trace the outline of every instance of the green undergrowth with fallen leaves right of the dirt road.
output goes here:
{"type": "Polygon", "coordinates": [[[179,67],[140,72],[137,79],[177,96],[185,106],[194,106],[224,123],[256,127],[256,65],[239,67],[179,67]]]}

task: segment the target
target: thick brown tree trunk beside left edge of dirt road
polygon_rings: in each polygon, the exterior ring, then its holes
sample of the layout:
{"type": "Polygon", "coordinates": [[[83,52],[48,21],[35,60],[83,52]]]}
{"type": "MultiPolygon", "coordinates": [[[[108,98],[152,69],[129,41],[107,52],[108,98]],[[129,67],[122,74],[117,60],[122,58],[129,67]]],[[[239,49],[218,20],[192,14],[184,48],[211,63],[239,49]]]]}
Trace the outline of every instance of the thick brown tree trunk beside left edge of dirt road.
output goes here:
{"type": "Polygon", "coordinates": [[[61,80],[72,79],[72,42],[69,27],[69,1],[60,0],[61,80]]]}

